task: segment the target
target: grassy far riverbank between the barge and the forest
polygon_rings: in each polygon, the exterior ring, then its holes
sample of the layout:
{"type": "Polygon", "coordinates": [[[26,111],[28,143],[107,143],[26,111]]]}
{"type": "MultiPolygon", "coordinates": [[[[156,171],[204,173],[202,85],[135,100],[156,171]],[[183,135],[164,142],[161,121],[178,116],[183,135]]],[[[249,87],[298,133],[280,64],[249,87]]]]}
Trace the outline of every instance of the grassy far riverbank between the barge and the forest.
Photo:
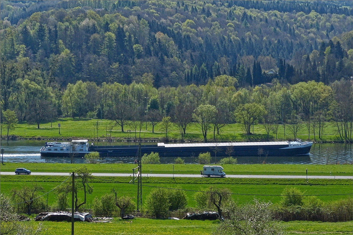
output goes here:
{"type": "MultiPolygon", "coordinates": [[[[74,121],[71,118],[60,118],[59,120],[55,120],[52,123],[52,128],[50,128],[51,123],[42,123],[40,124],[40,129],[37,129],[37,125],[30,125],[27,123],[17,124],[16,129],[10,130],[9,136],[16,136],[17,138],[37,138],[37,139],[65,139],[70,140],[72,138],[88,138],[90,140],[97,139],[97,133],[94,129],[94,124],[96,122],[100,123],[98,130],[98,137],[101,140],[106,140],[112,138],[113,140],[134,140],[135,133],[133,129],[126,125],[124,126],[125,132],[121,132],[120,126],[115,126],[112,135],[110,136],[109,131],[106,131],[106,126],[109,123],[114,121],[112,120],[100,120],[100,119],[75,119],[74,121]],[[60,135],[58,123],[61,124],[60,127],[60,135]],[[127,131],[131,130],[131,131],[127,131]],[[107,135],[108,134],[108,135],[107,135]]],[[[141,139],[144,141],[161,141],[165,137],[165,133],[161,132],[161,125],[157,124],[155,126],[155,133],[152,133],[152,125],[147,123],[147,131],[144,128],[141,131],[141,139]]],[[[6,131],[2,131],[2,137],[6,138],[6,131]]],[[[202,132],[198,128],[198,125],[193,123],[186,130],[186,135],[184,140],[187,141],[203,141],[202,132]]],[[[209,131],[208,140],[213,140],[213,131],[209,131]]],[[[308,134],[306,128],[303,128],[298,132],[297,138],[301,138],[302,140],[308,139],[308,134]]],[[[139,132],[136,133],[136,138],[139,139],[139,132]]],[[[177,127],[172,126],[170,131],[168,132],[169,141],[178,141],[181,138],[181,135],[177,129],[177,127]]],[[[278,129],[277,139],[278,140],[293,140],[294,136],[289,130],[286,128],[286,136],[283,135],[283,126],[280,125],[278,129]]],[[[269,136],[270,140],[276,140],[276,134],[270,132],[269,136]]],[[[311,133],[310,140],[314,140],[314,135],[311,133]]],[[[243,134],[243,129],[240,124],[229,124],[220,130],[220,135],[216,134],[216,141],[267,141],[267,133],[261,124],[254,125],[254,134],[250,136],[246,136],[243,134]]],[[[340,142],[341,139],[337,133],[337,130],[333,124],[327,123],[324,129],[324,135],[322,140],[318,139],[316,136],[316,141],[323,142],[340,142]]]]}

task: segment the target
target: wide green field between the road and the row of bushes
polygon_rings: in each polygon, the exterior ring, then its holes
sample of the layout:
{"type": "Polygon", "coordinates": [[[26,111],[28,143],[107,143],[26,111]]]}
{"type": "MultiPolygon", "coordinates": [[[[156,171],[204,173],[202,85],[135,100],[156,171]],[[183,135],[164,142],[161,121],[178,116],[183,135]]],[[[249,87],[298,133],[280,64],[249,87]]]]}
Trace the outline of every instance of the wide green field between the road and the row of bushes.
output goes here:
{"type": "MultiPolygon", "coordinates": [[[[43,175],[1,175],[1,193],[9,194],[12,188],[41,185],[44,192],[49,192],[67,177],[43,175]]],[[[118,191],[118,196],[128,195],[136,198],[137,184],[128,184],[131,177],[94,177],[92,183],[94,191],[87,196],[86,209],[92,208],[95,197],[110,193],[113,188],[118,191]]],[[[233,193],[232,198],[239,203],[250,202],[254,198],[277,203],[281,200],[281,193],[286,186],[299,188],[305,195],[349,194],[317,196],[324,202],[352,197],[352,180],[313,179],[308,185],[304,179],[237,179],[237,178],[165,178],[143,177],[143,198],[155,187],[180,188],[186,190],[188,206],[195,206],[193,195],[195,191],[204,191],[209,186],[227,187],[233,193]]],[[[43,192],[43,194],[44,194],[43,192]]],[[[56,200],[55,192],[45,196],[48,205],[56,200]]]]}

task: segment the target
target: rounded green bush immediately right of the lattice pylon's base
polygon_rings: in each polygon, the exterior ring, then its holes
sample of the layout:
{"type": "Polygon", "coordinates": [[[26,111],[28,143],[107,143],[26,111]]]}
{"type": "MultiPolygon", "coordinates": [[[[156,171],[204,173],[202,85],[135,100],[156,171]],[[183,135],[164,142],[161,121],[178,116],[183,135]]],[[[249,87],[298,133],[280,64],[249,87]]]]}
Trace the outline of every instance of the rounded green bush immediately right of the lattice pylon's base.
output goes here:
{"type": "Polygon", "coordinates": [[[170,203],[167,190],[164,188],[152,190],[146,199],[146,204],[151,216],[156,218],[168,216],[170,203]]]}

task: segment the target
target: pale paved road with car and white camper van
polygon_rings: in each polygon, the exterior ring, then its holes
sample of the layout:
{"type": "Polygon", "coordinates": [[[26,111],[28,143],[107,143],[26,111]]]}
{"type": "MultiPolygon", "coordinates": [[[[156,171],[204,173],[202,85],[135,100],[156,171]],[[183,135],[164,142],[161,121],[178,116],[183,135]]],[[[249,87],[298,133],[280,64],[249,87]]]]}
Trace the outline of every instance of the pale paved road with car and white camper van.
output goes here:
{"type": "MultiPolygon", "coordinates": [[[[14,175],[14,172],[0,172],[2,175],[14,175]]],[[[69,173],[56,172],[32,172],[31,175],[64,175],[69,173]]],[[[94,176],[131,176],[132,174],[114,174],[114,173],[92,173],[94,176]]],[[[142,174],[143,177],[173,177],[173,174],[142,174]]],[[[202,177],[201,175],[174,174],[174,177],[202,177]]],[[[227,175],[228,178],[274,178],[274,179],[306,179],[306,175],[227,175]]],[[[219,177],[217,177],[219,178],[219,177]]],[[[308,179],[353,179],[353,176],[331,176],[331,175],[308,175],[308,179]]]]}

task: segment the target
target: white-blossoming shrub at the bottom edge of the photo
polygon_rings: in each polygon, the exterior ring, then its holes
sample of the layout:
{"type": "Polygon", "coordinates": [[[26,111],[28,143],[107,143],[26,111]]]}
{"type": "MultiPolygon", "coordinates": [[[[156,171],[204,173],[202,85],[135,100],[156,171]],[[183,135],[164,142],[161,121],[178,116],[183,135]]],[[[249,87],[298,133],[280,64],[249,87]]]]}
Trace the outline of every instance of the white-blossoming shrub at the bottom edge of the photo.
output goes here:
{"type": "Polygon", "coordinates": [[[223,210],[226,219],[215,234],[281,234],[279,223],[273,220],[271,203],[259,202],[239,206],[234,203],[223,210]]]}

